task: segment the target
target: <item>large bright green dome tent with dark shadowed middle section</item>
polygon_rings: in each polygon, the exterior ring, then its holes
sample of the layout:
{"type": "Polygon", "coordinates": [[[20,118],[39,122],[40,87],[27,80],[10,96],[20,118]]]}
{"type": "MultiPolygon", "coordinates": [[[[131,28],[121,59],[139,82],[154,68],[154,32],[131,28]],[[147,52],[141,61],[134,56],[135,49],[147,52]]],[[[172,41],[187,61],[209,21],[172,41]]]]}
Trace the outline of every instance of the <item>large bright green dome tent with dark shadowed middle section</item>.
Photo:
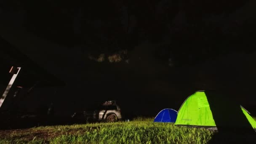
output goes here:
{"type": "Polygon", "coordinates": [[[197,91],[181,105],[175,125],[202,127],[238,127],[256,129],[249,112],[232,101],[232,97],[213,91],[197,91]]]}

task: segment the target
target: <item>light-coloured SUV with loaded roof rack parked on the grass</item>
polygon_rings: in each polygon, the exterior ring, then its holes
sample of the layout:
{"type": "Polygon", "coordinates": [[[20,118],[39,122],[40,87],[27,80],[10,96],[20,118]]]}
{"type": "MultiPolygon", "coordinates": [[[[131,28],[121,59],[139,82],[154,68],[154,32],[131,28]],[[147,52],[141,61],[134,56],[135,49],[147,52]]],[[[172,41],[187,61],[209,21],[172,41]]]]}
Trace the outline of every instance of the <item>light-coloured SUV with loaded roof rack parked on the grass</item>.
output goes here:
{"type": "Polygon", "coordinates": [[[81,117],[83,120],[96,120],[106,122],[117,122],[122,119],[121,109],[116,101],[105,101],[92,111],[75,112],[72,118],[81,117]]]}

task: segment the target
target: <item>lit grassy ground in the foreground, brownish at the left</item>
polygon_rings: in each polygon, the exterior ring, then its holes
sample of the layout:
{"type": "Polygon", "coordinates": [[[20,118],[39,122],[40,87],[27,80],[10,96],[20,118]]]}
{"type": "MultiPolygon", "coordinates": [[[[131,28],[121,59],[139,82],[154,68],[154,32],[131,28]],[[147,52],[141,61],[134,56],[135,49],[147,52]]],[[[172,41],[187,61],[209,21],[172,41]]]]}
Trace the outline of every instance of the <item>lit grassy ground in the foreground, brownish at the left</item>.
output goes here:
{"type": "Polygon", "coordinates": [[[44,126],[0,131],[0,144],[205,144],[213,132],[153,123],[153,118],[130,122],[44,126]]]}

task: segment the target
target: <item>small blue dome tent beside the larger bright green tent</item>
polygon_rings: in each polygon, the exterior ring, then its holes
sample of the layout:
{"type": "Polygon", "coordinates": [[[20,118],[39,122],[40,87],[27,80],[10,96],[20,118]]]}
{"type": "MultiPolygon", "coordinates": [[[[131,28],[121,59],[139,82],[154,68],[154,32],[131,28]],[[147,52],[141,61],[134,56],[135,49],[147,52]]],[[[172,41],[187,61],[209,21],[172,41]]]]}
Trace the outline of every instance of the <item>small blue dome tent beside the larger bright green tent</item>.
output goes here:
{"type": "Polygon", "coordinates": [[[163,109],[157,114],[154,122],[175,123],[177,113],[174,109],[163,109]]]}

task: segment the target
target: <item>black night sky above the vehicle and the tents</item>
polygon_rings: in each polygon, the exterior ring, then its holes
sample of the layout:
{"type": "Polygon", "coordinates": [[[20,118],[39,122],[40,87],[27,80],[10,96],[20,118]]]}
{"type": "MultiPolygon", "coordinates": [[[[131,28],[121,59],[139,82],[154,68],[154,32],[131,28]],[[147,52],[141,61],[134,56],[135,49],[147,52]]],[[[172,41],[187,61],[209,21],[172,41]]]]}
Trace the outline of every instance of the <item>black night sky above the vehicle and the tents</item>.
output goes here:
{"type": "Polygon", "coordinates": [[[66,83],[36,88],[24,105],[71,115],[116,99],[130,115],[155,116],[209,89],[253,111],[255,2],[201,2],[1,2],[0,36],[66,83]],[[117,63],[89,59],[124,50],[117,63]]]}

